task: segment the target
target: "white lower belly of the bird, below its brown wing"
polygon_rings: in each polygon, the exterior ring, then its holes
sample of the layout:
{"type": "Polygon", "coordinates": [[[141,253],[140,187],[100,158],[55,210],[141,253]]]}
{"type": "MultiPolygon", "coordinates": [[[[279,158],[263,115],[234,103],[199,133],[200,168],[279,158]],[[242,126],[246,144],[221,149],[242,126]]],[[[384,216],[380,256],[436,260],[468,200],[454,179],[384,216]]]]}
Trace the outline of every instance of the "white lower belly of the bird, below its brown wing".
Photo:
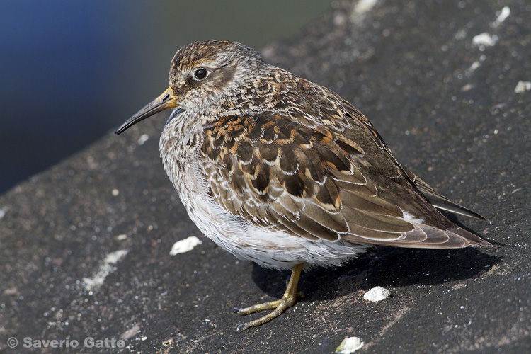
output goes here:
{"type": "MultiPolygon", "coordinates": [[[[202,184],[196,186],[201,188],[202,184]]],[[[177,189],[190,219],[205,236],[237,258],[264,267],[290,269],[299,263],[305,263],[306,268],[340,265],[367,248],[341,240],[314,241],[273,227],[259,227],[224,210],[207,197],[206,191],[177,189]]]]}

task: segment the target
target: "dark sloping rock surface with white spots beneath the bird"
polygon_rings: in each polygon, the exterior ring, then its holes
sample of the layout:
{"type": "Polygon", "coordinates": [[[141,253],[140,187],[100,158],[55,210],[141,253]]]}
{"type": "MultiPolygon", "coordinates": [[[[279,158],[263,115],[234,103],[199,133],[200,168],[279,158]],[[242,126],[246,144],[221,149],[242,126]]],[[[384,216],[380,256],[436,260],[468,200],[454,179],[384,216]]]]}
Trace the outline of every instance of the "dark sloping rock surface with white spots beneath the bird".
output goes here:
{"type": "Polygon", "coordinates": [[[356,336],[359,353],[530,353],[531,91],[515,92],[531,81],[530,18],[524,0],[341,1],[262,50],[356,105],[405,166],[488,217],[455,221],[499,247],[372,249],[304,273],[295,307],[236,331],[256,315],[232,308],[280,297],[289,274],[198,232],[152,118],[0,197],[1,352],[333,353],[356,336]],[[189,236],[202,244],[170,256],[189,236]],[[375,286],[392,297],[363,300],[375,286]],[[26,348],[48,340],[65,342],[26,348]]]}

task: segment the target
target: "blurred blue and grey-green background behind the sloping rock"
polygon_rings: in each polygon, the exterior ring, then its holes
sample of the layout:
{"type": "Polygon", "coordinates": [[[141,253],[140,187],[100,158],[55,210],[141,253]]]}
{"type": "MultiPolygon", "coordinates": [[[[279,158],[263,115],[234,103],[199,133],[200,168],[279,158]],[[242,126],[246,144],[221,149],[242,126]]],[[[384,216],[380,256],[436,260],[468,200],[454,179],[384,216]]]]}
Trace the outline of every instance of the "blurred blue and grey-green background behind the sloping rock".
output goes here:
{"type": "Polygon", "coordinates": [[[168,85],[181,46],[259,50],[331,1],[0,1],[0,194],[114,130],[168,85]]]}

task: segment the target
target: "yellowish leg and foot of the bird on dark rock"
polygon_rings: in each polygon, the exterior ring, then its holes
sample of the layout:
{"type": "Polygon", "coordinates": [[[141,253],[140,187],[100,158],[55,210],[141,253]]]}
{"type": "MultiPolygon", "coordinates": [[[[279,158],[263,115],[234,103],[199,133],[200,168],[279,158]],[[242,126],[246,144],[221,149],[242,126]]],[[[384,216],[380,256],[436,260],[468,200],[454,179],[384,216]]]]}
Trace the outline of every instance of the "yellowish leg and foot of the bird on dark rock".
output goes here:
{"type": "Polygon", "coordinates": [[[291,271],[290,282],[287,283],[287,289],[282,299],[270,302],[264,302],[263,304],[256,304],[251,307],[245,307],[243,309],[236,309],[236,314],[252,314],[254,312],[262,311],[265,309],[273,309],[273,312],[266,314],[265,316],[249,321],[244,324],[240,324],[238,329],[249,329],[251,327],[260,326],[265,322],[271,321],[275,317],[280,316],[282,312],[288,307],[292,307],[297,302],[297,297],[302,296],[301,292],[297,292],[297,285],[299,284],[300,273],[302,272],[302,263],[295,265],[291,271]]]}

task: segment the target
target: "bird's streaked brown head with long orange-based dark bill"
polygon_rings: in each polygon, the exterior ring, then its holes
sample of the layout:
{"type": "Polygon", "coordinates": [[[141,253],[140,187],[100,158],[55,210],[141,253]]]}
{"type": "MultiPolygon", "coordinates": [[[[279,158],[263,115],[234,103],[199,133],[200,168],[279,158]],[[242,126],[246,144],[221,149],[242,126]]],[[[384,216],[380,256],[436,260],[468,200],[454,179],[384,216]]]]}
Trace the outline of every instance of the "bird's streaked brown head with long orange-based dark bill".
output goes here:
{"type": "Polygon", "coordinates": [[[238,42],[205,40],[185,45],[171,61],[170,86],[116,130],[169,108],[173,116],[184,110],[205,112],[219,100],[234,96],[256,76],[264,62],[258,52],[238,42]]]}

